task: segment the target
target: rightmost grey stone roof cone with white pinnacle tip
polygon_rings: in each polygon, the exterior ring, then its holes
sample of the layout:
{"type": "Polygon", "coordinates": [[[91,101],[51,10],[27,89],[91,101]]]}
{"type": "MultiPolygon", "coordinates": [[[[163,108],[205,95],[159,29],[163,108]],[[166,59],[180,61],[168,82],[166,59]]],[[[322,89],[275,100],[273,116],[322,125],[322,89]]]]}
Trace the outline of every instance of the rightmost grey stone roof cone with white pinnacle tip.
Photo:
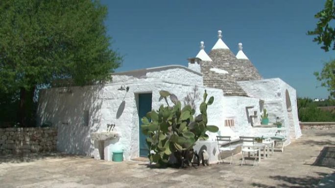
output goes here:
{"type": "Polygon", "coordinates": [[[262,76],[254,64],[251,63],[249,58],[244,54],[242,49],[242,43],[239,43],[239,52],[236,54],[236,58],[238,59],[239,65],[242,67],[242,75],[237,78],[237,81],[261,80],[262,76]]]}

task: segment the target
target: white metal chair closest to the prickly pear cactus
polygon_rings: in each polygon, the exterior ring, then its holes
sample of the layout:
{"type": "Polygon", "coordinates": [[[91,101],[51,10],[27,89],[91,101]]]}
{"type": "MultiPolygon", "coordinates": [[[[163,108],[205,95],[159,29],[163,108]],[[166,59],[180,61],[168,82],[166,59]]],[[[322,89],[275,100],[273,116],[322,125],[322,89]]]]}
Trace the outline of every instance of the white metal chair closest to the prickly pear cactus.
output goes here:
{"type": "Polygon", "coordinates": [[[216,136],[217,146],[219,150],[219,164],[222,159],[222,152],[228,151],[231,154],[231,159],[229,165],[232,164],[234,160],[234,149],[236,149],[240,144],[232,145],[231,136],[216,136]]]}

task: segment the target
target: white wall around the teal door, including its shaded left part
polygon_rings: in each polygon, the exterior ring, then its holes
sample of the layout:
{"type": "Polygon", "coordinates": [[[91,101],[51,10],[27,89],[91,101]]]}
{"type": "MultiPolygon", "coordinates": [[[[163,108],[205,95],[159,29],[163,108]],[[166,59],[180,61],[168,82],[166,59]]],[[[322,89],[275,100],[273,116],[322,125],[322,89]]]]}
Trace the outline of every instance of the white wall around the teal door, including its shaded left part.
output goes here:
{"type": "MultiPolygon", "coordinates": [[[[123,84],[123,83],[122,83],[123,84]]],[[[139,156],[139,118],[136,96],[138,93],[152,92],[152,108],[158,109],[164,100],[159,102],[159,91],[174,93],[179,100],[192,90],[193,85],[171,84],[163,82],[128,83],[128,92],[120,91],[121,83],[104,86],[72,87],[72,93],[60,93],[62,88],[43,90],[39,97],[38,122],[50,121],[59,127],[57,149],[67,153],[93,155],[94,143],[90,133],[104,132],[107,124],[115,124],[114,131],[120,133],[117,144],[124,150],[125,160],[139,156]],[[120,104],[124,101],[124,110],[117,117],[120,104]],[[89,126],[84,126],[84,110],[90,110],[89,126]],[[64,123],[68,125],[64,125],[64,123]]],[[[219,125],[223,117],[223,92],[220,89],[206,88],[215,102],[208,108],[209,125],[219,125]]],[[[199,87],[200,98],[205,88],[199,87]]],[[[201,100],[197,102],[197,106],[201,100]]],[[[170,102],[170,104],[172,104],[170,102]]],[[[199,110],[197,109],[197,113],[199,110]]]]}

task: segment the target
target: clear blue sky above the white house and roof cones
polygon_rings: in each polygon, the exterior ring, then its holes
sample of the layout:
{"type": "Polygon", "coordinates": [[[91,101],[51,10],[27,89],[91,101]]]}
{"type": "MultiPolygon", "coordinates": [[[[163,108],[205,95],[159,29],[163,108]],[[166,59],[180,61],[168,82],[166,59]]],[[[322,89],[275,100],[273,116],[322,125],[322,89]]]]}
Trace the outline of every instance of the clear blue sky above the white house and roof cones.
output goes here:
{"type": "Polygon", "coordinates": [[[263,78],[281,78],[300,97],[326,98],[313,76],[335,58],[307,36],[325,0],[101,0],[113,49],[124,57],[116,71],[169,64],[187,66],[199,42],[207,53],[217,30],[234,54],[238,43],[263,78]]]}

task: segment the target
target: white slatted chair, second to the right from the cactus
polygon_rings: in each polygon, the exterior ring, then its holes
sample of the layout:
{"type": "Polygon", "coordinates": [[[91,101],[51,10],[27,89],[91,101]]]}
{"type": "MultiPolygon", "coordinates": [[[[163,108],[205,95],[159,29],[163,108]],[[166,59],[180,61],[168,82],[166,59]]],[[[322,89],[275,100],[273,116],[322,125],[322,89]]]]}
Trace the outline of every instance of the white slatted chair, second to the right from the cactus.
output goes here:
{"type": "MultiPolygon", "coordinates": [[[[258,162],[261,159],[261,149],[259,146],[255,145],[255,137],[246,137],[246,136],[240,136],[239,137],[242,141],[242,163],[241,166],[243,166],[243,162],[246,165],[245,162],[245,153],[248,153],[248,155],[252,154],[254,155],[254,164],[253,166],[255,167],[255,163],[258,159],[258,162]]],[[[258,164],[259,165],[259,164],[258,164]]]]}

